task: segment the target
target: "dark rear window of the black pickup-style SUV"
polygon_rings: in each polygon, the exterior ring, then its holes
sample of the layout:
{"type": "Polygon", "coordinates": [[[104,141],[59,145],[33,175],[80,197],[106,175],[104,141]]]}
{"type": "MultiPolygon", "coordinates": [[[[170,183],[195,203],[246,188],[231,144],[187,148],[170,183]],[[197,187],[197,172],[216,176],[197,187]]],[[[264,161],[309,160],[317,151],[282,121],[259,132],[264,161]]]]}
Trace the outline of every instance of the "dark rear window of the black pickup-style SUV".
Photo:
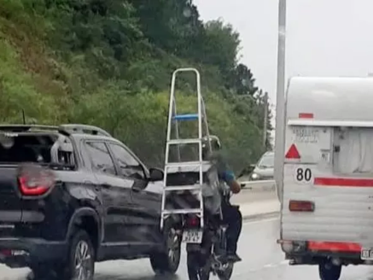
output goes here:
{"type": "MultiPolygon", "coordinates": [[[[55,134],[0,134],[0,163],[52,162],[53,144],[58,139],[55,134]]],[[[70,155],[58,150],[56,163],[72,164],[70,155]]],[[[53,161],[54,162],[54,161],[53,161]]]]}

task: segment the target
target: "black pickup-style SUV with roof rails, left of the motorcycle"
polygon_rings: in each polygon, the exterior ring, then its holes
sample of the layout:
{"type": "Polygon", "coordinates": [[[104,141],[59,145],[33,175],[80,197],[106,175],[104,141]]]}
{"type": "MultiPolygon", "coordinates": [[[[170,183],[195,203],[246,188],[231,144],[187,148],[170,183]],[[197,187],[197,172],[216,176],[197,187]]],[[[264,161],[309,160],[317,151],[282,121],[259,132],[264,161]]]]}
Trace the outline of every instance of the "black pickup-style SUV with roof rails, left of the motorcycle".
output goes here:
{"type": "Polygon", "coordinates": [[[88,125],[0,125],[0,263],[93,279],[94,262],[150,258],[175,273],[181,221],[160,230],[163,171],[88,125]]]}

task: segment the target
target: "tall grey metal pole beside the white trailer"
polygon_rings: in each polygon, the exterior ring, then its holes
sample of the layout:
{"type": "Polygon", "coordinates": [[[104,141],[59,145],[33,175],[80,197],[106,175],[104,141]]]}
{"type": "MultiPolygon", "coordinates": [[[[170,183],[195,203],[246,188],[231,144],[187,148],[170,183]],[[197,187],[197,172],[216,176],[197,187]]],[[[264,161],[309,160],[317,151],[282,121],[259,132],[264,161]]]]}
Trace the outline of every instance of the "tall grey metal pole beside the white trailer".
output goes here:
{"type": "Polygon", "coordinates": [[[286,43],[286,0],[279,0],[278,11],[278,54],[277,54],[277,94],[276,94],[276,136],[275,136],[275,181],[279,200],[283,193],[283,167],[285,155],[284,115],[285,115],[285,43],[286,43]]]}

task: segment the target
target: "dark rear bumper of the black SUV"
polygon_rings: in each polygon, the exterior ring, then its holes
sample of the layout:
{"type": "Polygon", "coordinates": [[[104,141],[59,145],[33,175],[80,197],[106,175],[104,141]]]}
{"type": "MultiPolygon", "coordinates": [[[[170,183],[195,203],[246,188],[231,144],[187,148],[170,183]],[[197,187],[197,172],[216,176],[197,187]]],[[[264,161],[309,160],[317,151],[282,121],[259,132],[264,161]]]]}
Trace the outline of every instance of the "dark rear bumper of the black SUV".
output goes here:
{"type": "Polygon", "coordinates": [[[62,261],[67,256],[65,241],[37,238],[0,238],[0,263],[9,267],[29,267],[40,262],[62,261]]]}

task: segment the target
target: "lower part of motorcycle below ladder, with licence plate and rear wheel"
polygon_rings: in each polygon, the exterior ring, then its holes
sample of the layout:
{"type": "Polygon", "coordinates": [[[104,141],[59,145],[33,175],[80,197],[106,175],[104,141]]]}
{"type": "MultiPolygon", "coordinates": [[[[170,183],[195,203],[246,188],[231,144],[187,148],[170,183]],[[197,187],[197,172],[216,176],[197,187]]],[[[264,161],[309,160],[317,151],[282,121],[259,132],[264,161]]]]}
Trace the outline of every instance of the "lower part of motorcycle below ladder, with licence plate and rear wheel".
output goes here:
{"type": "Polygon", "coordinates": [[[229,280],[233,262],[225,258],[228,225],[212,215],[204,216],[204,228],[195,215],[189,214],[184,220],[182,242],[186,243],[189,280],[209,280],[211,273],[229,280]]]}

